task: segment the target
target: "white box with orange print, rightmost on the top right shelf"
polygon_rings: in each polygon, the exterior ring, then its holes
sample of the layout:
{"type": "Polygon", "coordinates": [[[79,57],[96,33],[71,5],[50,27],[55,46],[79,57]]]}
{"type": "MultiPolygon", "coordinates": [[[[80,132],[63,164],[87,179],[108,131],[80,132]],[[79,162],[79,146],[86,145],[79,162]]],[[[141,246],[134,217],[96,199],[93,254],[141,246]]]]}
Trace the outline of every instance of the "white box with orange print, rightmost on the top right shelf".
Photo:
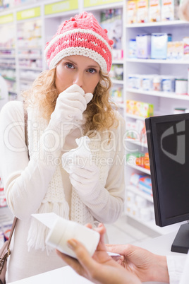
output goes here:
{"type": "Polygon", "coordinates": [[[161,20],[178,20],[180,0],[161,0],[161,20]]]}

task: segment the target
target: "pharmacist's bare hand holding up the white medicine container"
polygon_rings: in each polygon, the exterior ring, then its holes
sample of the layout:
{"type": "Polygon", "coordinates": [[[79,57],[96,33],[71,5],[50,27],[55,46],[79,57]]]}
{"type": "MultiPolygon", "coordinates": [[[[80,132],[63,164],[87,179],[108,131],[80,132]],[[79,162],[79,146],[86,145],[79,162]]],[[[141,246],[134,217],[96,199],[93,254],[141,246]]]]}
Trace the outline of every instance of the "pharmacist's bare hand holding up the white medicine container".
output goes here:
{"type": "Polygon", "coordinates": [[[99,244],[94,255],[91,257],[87,252],[83,244],[76,239],[68,240],[68,247],[73,249],[77,259],[73,259],[71,256],[67,256],[59,251],[57,254],[66,261],[66,264],[71,266],[75,272],[80,276],[83,276],[93,283],[102,284],[139,284],[140,280],[132,273],[123,269],[120,264],[117,264],[111,256],[106,253],[106,247],[104,245],[104,234],[106,229],[104,225],[99,224],[96,229],[100,234],[99,244]]]}

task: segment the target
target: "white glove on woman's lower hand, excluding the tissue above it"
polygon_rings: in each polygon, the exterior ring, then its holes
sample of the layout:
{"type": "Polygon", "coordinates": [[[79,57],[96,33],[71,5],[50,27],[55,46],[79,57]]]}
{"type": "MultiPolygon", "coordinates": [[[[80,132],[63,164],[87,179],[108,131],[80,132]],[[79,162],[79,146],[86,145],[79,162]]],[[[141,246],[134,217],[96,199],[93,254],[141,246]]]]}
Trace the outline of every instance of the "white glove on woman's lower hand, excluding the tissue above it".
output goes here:
{"type": "Polygon", "coordinates": [[[99,182],[99,168],[87,157],[77,157],[76,161],[70,167],[71,184],[83,195],[92,193],[99,182]]]}

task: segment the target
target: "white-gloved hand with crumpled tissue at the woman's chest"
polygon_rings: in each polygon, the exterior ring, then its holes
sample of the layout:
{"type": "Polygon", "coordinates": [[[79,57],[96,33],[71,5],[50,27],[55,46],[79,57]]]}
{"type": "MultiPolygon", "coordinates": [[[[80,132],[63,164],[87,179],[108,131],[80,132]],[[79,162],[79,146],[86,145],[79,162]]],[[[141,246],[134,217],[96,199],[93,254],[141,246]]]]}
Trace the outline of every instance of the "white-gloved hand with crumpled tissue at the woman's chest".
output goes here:
{"type": "Polygon", "coordinates": [[[89,194],[99,182],[99,168],[92,161],[89,148],[90,138],[87,136],[75,140],[78,148],[62,155],[64,170],[70,174],[73,187],[82,194],[89,194]]]}

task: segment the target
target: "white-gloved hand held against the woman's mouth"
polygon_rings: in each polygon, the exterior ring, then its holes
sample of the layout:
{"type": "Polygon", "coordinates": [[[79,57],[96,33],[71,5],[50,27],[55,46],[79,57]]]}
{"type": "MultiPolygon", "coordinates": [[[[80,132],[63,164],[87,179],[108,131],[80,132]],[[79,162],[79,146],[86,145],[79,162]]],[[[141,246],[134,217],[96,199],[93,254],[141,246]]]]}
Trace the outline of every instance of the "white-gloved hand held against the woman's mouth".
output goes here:
{"type": "Polygon", "coordinates": [[[83,112],[87,108],[87,103],[92,99],[92,93],[86,93],[78,85],[71,85],[59,94],[56,100],[56,107],[51,114],[51,122],[61,128],[61,124],[68,128],[73,128],[77,119],[83,119],[83,112]]]}

